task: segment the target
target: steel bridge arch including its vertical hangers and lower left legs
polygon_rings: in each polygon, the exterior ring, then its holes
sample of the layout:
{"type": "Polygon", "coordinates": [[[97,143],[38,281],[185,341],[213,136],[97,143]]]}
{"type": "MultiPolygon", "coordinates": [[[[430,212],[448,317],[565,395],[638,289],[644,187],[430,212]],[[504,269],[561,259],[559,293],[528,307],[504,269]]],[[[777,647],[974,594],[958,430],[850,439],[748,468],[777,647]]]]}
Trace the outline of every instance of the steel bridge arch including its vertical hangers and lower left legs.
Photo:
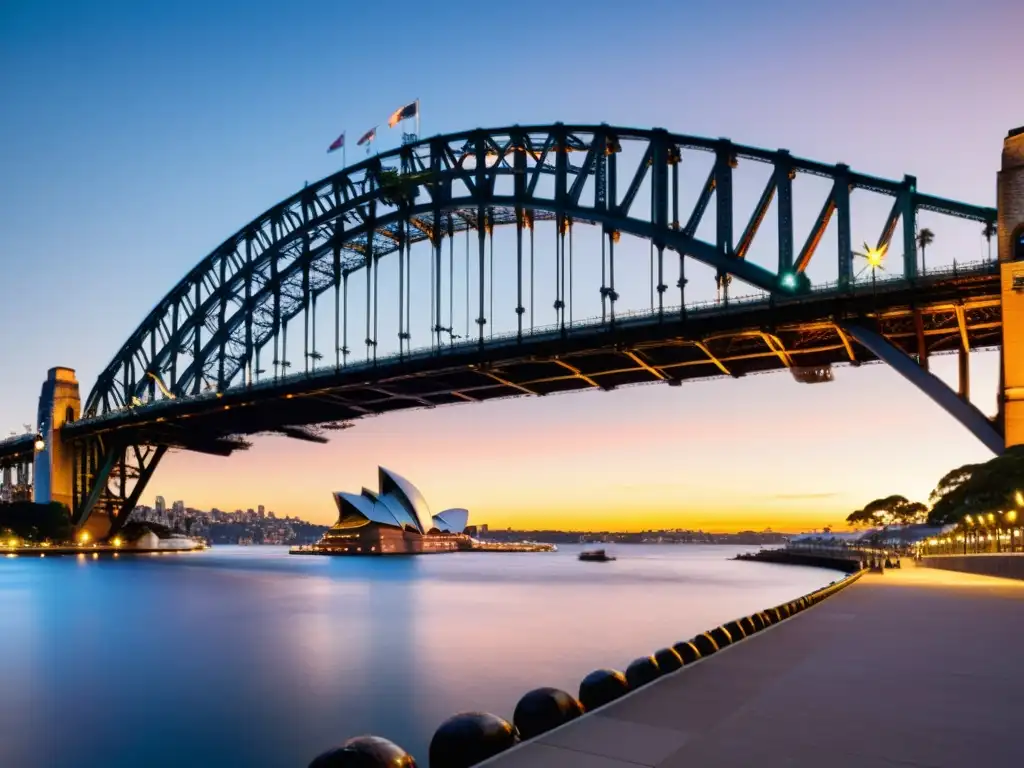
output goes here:
{"type": "MultiPolygon", "coordinates": [[[[412,246],[418,243],[429,245],[432,254],[429,332],[432,348],[440,350],[445,346],[445,335],[449,344],[455,338],[453,324],[444,325],[441,310],[442,294],[451,296],[453,291],[451,276],[445,285],[442,255],[444,245],[451,249],[458,233],[467,239],[476,234],[479,284],[474,311],[477,342],[482,348],[484,328],[493,312],[493,298],[489,310],[485,301],[485,243],[496,226],[514,227],[516,232],[520,342],[526,312],[524,239],[532,243],[536,225],[542,220],[552,221],[557,232],[556,270],[561,276],[556,281],[554,306],[563,334],[566,299],[571,302],[571,289],[568,296],[565,290],[565,234],[571,233],[577,223],[600,229],[602,319],[608,318],[612,327],[618,299],[615,244],[621,234],[649,241],[652,254],[656,252],[660,313],[668,311],[666,293],[670,290],[666,252],[674,254],[678,263],[670,268],[678,268],[678,280],[673,283],[679,291],[680,307],[686,303],[686,259],[713,268],[726,290],[735,278],[779,300],[807,294],[807,267],[835,220],[839,281],[834,295],[852,294],[856,286],[850,198],[858,189],[892,199],[889,215],[872,242],[879,248],[888,247],[897,228],[901,229],[901,272],[909,284],[919,276],[914,237],[920,211],[984,223],[995,221],[994,209],[922,194],[910,176],[886,180],[857,173],[843,164],[797,158],[783,150],[762,150],[664,129],[556,123],[476,129],[407,144],[305,186],[242,227],[198,263],[157,304],[102,371],[83,409],[83,422],[72,431],[84,434],[90,422],[166,406],[172,399],[182,400],[184,409],[185,401],[204,393],[227,396],[247,391],[270,378],[261,381],[265,373],[261,366],[272,366],[273,381],[284,380],[290,366],[288,324],[300,315],[305,371],[344,370],[350,365],[348,298],[354,290],[365,291],[362,343],[368,356],[376,359],[377,274],[380,260],[390,254],[398,258],[399,350],[404,353],[410,339],[409,311],[402,316],[401,306],[403,300],[408,306],[411,285],[407,265],[411,264],[412,246]],[[712,167],[696,200],[684,207],[680,164],[691,154],[710,157],[712,167]],[[769,169],[757,204],[741,216],[733,199],[733,173],[740,162],[769,169]],[[820,213],[806,231],[796,230],[793,215],[793,181],[800,174],[830,182],[820,213]],[[768,269],[746,257],[773,202],[777,226],[772,247],[778,256],[776,267],[768,269]],[[711,218],[712,205],[714,238],[701,240],[697,230],[706,214],[711,218]],[[736,223],[742,224],[738,238],[734,234],[736,223]],[[352,288],[356,273],[362,280],[352,288]],[[315,349],[315,307],[318,298],[332,293],[334,359],[319,362],[323,355],[315,349]]],[[[490,258],[493,297],[493,252],[490,258]]],[[[685,316],[685,309],[680,312],[685,316]]],[[[568,326],[571,324],[570,316],[568,326]]],[[[848,341],[844,344],[849,346],[848,341]]],[[[213,453],[230,453],[239,446],[237,441],[221,438],[194,445],[182,439],[178,444],[213,453]]],[[[105,504],[115,517],[120,514],[117,510],[130,511],[165,450],[164,445],[141,447],[119,442],[111,435],[91,440],[80,456],[78,519],[84,519],[97,504],[105,504]]]]}

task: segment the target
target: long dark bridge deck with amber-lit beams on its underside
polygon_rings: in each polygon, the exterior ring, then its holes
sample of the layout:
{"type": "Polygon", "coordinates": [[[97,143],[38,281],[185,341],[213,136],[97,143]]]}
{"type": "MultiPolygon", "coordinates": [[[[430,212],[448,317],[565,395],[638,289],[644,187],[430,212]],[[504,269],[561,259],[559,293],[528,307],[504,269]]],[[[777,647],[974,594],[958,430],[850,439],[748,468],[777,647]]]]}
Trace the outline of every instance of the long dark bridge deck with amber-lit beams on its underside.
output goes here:
{"type": "Polygon", "coordinates": [[[483,347],[427,350],[376,366],[349,364],[77,422],[63,437],[98,434],[119,443],[228,455],[248,445],[246,435],[325,441],[315,425],[339,428],[406,409],[877,361],[842,330],[849,323],[879,332],[927,369],[930,355],[999,344],[998,276],[718,306],[685,319],[667,311],[621,318],[614,327],[495,339],[483,347]]]}

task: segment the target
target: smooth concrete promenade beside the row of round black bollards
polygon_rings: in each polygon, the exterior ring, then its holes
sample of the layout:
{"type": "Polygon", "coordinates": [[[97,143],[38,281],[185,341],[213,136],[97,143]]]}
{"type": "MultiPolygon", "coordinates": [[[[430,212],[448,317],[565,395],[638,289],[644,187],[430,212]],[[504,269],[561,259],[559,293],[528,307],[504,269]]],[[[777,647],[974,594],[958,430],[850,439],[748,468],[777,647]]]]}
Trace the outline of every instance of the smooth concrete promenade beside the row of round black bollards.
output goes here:
{"type": "Polygon", "coordinates": [[[914,567],[869,573],[481,765],[1018,766],[1022,637],[1024,583],[914,567]]]}

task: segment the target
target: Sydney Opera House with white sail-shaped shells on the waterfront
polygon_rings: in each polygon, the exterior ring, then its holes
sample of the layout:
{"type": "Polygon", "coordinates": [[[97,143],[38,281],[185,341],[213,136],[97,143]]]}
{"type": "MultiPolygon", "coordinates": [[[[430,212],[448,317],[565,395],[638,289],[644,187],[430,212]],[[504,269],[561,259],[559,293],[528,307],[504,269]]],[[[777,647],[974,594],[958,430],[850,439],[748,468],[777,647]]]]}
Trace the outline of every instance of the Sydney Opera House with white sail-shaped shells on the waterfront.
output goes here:
{"type": "Polygon", "coordinates": [[[404,477],[379,467],[378,490],[337,493],[338,522],[309,549],[325,555],[400,555],[469,549],[469,512],[446,509],[436,515],[404,477]]]}

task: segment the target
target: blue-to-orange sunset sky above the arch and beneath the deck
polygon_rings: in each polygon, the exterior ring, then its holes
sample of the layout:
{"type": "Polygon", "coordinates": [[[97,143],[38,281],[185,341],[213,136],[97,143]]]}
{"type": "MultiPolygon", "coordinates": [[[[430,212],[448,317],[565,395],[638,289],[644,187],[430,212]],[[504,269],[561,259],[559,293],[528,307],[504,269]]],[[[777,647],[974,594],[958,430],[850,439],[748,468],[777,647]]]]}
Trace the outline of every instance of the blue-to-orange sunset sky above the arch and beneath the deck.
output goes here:
{"type": "MultiPolygon", "coordinates": [[[[342,130],[352,145],[379,125],[377,148],[393,147],[387,116],[415,98],[423,135],[659,126],[912,174],[978,205],[994,205],[1002,138],[1024,124],[1019,0],[432,5],[0,5],[0,434],[34,422],[53,366],[76,369],[84,396],[191,266],[339,169],[325,151],[342,130]]],[[[800,206],[813,217],[820,201],[800,206]]],[[[942,225],[930,267],[984,256],[980,226],[942,225]]],[[[973,365],[992,413],[997,360],[973,365]]],[[[955,358],[934,370],[952,381],[955,358]]],[[[435,511],[465,506],[492,526],[798,529],[882,495],[926,500],[985,458],[871,366],[821,386],[778,374],[515,399],[368,420],[329,445],[172,455],[143,501],[330,522],[331,492],[372,485],[383,464],[435,511]]]]}

